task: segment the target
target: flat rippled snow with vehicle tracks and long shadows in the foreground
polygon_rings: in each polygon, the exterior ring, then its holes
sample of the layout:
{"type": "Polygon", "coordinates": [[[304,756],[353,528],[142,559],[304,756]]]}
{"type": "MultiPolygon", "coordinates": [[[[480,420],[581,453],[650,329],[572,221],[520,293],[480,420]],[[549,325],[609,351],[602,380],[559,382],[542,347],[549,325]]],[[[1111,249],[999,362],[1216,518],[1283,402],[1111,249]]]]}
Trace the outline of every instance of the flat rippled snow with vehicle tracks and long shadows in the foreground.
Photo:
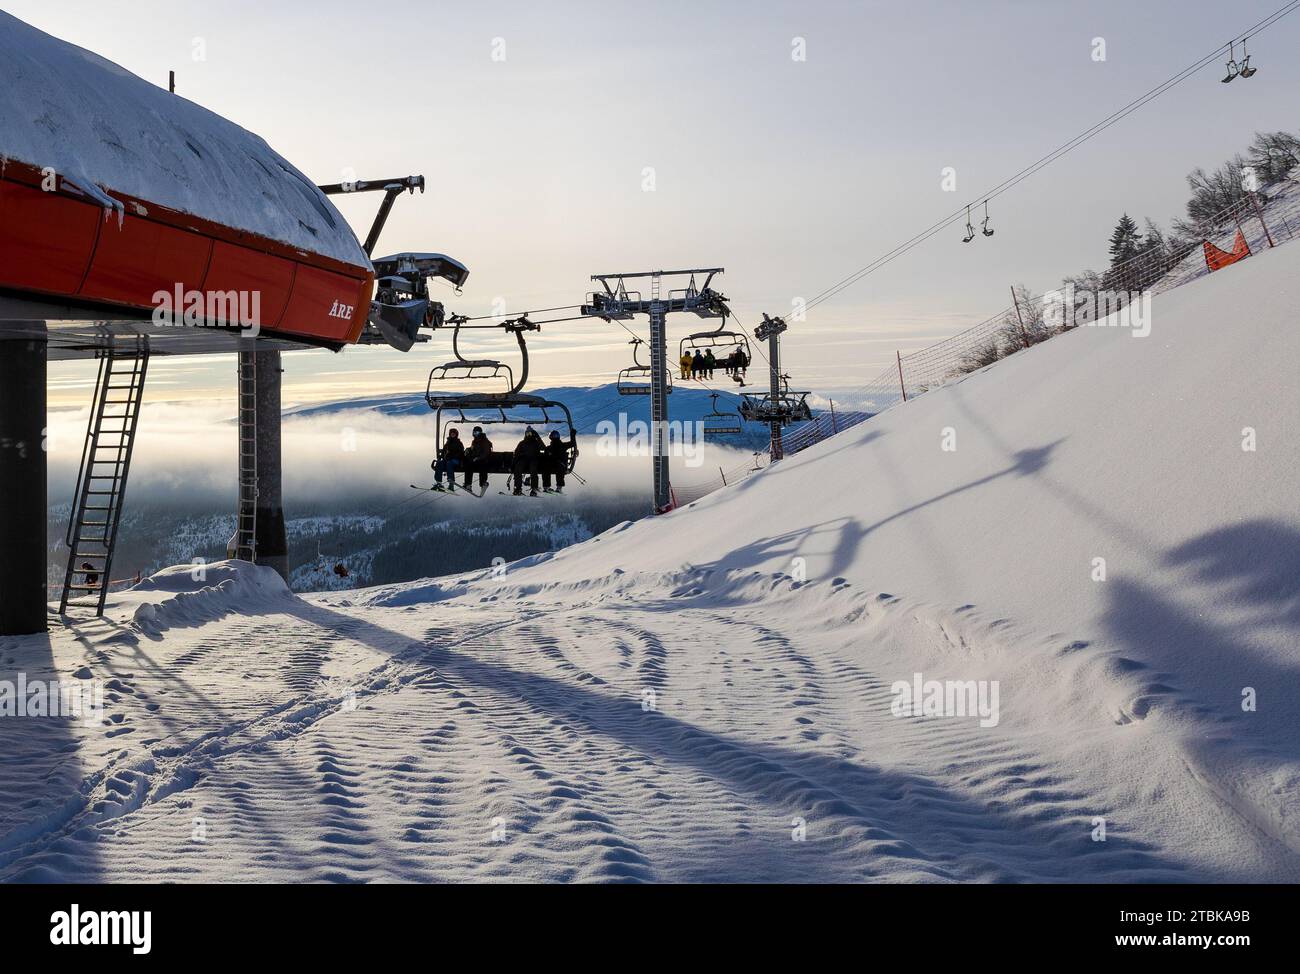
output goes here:
{"type": "MultiPolygon", "coordinates": [[[[0,878],[1187,878],[1122,831],[1089,841],[1101,800],[1015,732],[892,717],[855,652],[798,638],[800,593],[720,609],[707,581],[638,590],[618,616],[563,586],[347,615],[295,599],[204,623],[170,658],[87,624],[109,717],[65,748],[64,795],[0,844],[0,878]]],[[[23,766],[49,767],[39,745],[23,766]]]]}

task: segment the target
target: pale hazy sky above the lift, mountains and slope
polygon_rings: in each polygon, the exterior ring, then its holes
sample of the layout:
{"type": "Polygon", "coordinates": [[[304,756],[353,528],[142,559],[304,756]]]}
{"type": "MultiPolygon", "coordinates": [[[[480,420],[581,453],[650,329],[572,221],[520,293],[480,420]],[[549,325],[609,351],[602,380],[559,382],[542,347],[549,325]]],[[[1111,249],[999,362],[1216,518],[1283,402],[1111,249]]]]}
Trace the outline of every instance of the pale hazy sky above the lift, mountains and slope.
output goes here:
{"type": "MultiPolygon", "coordinates": [[[[788,313],[1001,182],[1282,0],[910,3],[68,3],[4,9],[263,135],[318,182],[422,173],[380,252],[464,261],[469,315],[576,304],[593,273],[722,265],[741,321],[788,313]],[[796,38],[806,60],[792,59],[796,38]],[[1106,60],[1092,59],[1093,39],[1106,60]],[[494,60],[494,51],[504,53],[494,60]],[[195,60],[202,55],[200,60],[195,60]],[[957,169],[957,191],[941,170],[957,169]],[[646,169],[654,189],[646,190],[646,169]]],[[[1122,212],[1182,215],[1184,174],[1256,130],[1296,129],[1300,14],[992,205],[993,238],[949,230],[792,326],[798,384],[844,389],[904,351],[1105,263],[1122,212]]],[[[359,235],[377,196],[343,202],[359,235]]],[[[978,222],[978,220],[976,220],[978,222]]],[[[694,317],[671,322],[676,338],[694,317]]],[[[633,328],[644,334],[646,322],[633,328]]],[[[615,325],[532,342],[534,385],[610,381],[615,325]]],[[[447,336],[408,355],[286,356],[286,399],[422,390],[447,336]]],[[[82,403],[52,368],[51,401],[82,403]]],[[[233,395],[234,364],[159,362],[151,398],[233,395]]]]}

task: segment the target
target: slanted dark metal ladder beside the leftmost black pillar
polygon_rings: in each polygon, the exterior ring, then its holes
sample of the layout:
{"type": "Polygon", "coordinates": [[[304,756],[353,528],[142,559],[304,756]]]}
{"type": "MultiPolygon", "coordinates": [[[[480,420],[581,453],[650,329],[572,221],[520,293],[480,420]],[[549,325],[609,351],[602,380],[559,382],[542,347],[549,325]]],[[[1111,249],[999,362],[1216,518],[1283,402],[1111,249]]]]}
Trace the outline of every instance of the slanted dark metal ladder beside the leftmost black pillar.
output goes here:
{"type": "Polygon", "coordinates": [[[68,568],[58,599],[60,615],[69,605],[94,605],[95,615],[104,614],[148,364],[150,339],[144,336],[110,339],[100,352],[95,406],[68,521],[68,568]]]}

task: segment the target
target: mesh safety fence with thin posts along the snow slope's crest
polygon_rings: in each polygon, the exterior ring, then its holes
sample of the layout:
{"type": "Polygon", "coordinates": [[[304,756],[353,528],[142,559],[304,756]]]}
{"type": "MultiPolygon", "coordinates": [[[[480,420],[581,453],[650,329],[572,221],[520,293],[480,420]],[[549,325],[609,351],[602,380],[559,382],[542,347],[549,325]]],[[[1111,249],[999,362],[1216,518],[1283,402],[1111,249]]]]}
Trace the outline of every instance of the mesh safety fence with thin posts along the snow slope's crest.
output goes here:
{"type": "MultiPolygon", "coordinates": [[[[863,423],[906,399],[923,395],[968,372],[991,365],[1008,355],[1046,341],[1079,325],[1101,321],[1122,312],[1143,294],[1161,294],[1210,273],[1204,243],[1231,252],[1238,234],[1249,252],[1294,241],[1297,209],[1261,203],[1245,195],[1225,205],[1191,228],[1200,237],[1195,246],[1171,247],[1161,242],[1135,257],[1113,265],[1105,273],[1084,273],[1069,278],[1061,287],[1032,294],[1013,289],[1013,303],[952,338],[898,355],[893,365],[849,397],[838,402],[837,411],[818,414],[811,423],[790,427],[781,437],[784,455],[806,450],[828,437],[863,423]]],[[[755,462],[733,471],[719,471],[716,477],[676,486],[677,506],[733,484],[762,468],[760,454],[755,462]]]]}

